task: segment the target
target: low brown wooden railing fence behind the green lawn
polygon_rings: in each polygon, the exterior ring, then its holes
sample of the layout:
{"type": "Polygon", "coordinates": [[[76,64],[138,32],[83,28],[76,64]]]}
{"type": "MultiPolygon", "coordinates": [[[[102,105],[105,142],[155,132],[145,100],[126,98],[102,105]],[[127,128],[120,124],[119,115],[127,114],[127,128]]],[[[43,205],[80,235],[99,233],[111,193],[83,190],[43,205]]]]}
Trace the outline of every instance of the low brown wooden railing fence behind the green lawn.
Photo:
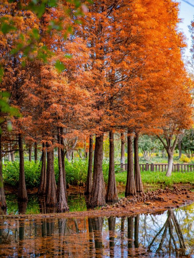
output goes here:
{"type": "MultiPolygon", "coordinates": [[[[120,166],[121,171],[127,171],[127,163],[125,164],[115,164],[116,166],[120,166]]],[[[154,164],[154,163],[146,163],[146,164],[139,164],[140,169],[142,169],[142,171],[160,171],[160,172],[166,172],[168,169],[168,164],[164,164],[164,163],[158,163],[158,164],[154,164]]],[[[183,164],[173,164],[172,165],[172,171],[173,172],[191,172],[194,171],[194,164],[187,164],[187,163],[183,163],[183,164]]]]}

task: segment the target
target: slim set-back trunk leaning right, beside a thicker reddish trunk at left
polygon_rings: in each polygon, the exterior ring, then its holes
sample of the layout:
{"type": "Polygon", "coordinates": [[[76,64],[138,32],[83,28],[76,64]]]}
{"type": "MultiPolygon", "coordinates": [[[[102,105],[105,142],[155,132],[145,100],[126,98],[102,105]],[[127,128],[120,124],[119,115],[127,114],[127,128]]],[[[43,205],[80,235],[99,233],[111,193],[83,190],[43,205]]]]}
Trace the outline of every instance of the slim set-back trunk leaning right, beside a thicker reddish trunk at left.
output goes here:
{"type": "Polygon", "coordinates": [[[40,172],[40,184],[38,187],[38,194],[45,195],[46,194],[46,149],[45,143],[42,143],[42,165],[40,172]]]}

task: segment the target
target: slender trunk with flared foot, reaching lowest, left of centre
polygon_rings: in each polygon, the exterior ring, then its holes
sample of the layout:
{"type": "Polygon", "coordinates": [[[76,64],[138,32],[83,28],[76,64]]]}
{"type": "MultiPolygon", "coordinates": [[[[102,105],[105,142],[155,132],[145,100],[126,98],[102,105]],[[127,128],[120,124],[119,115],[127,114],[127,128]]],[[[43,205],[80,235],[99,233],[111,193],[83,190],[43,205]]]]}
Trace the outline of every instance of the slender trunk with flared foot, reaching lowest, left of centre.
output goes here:
{"type": "MultiPolygon", "coordinates": [[[[57,138],[58,138],[58,143],[61,143],[60,129],[59,129],[57,138]]],[[[59,166],[59,181],[58,181],[58,187],[57,187],[58,211],[65,212],[65,211],[69,211],[69,207],[67,205],[66,193],[64,189],[62,155],[61,155],[60,147],[58,147],[58,166],[59,166]]]]}

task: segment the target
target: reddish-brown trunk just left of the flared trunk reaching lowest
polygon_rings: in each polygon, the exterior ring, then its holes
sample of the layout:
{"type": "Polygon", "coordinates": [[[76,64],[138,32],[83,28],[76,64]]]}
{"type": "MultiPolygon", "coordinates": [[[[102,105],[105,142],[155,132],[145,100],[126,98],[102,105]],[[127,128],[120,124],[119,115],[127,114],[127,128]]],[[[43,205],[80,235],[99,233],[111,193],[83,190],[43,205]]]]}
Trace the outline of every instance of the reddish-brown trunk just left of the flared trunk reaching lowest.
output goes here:
{"type": "Polygon", "coordinates": [[[54,149],[51,144],[47,145],[46,195],[46,206],[56,207],[57,196],[54,172],[54,149]]]}

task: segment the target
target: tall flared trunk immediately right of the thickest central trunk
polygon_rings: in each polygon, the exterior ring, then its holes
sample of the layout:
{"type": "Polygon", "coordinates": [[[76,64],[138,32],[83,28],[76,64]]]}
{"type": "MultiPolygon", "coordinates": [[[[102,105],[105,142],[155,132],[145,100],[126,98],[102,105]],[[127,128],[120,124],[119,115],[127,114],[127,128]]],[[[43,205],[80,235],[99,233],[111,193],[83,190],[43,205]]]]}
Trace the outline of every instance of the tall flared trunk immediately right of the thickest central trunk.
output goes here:
{"type": "Polygon", "coordinates": [[[106,191],[106,202],[118,201],[118,194],[115,180],[115,162],[114,162],[114,134],[109,132],[109,178],[106,191]]]}

